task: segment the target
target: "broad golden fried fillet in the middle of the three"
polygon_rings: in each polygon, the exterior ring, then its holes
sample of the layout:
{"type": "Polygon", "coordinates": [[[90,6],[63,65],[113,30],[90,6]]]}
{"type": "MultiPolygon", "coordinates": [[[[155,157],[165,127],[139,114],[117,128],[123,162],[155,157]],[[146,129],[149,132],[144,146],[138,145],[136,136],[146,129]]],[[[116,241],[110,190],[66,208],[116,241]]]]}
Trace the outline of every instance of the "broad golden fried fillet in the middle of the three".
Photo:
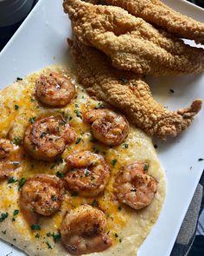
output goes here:
{"type": "Polygon", "coordinates": [[[119,7],[65,0],[64,10],[80,42],[105,52],[118,69],[151,75],[184,75],[204,69],[204,49],[190,47],[119,7]]]}

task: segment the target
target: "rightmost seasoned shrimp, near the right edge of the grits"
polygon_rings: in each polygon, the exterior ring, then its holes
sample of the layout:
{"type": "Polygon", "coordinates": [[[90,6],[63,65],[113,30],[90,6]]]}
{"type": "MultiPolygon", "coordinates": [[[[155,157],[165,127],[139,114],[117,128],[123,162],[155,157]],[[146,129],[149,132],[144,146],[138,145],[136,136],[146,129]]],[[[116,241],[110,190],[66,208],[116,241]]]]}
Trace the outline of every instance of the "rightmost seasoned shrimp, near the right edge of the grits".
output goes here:
{"type": "Polygon", "coordinates": [[[144,169],[145,165],[137,162],[123,167],[114,184],[118,200],[136,210],[149,206],[156,194],[157,182],[144,169]]]}

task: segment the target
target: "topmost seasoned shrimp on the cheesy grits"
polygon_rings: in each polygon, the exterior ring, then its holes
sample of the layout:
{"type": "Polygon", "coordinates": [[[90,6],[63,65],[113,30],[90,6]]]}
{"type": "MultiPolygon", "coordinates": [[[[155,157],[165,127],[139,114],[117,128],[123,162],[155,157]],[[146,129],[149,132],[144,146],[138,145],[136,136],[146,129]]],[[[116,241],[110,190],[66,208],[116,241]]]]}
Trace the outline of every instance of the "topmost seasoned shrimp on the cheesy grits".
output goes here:
{"type": "Polygon", "coordinates": [[[64,107],[71,102],[75,87],[67,75],[50,72],[35,81],[38,99],[52,107],[64,107]]]}

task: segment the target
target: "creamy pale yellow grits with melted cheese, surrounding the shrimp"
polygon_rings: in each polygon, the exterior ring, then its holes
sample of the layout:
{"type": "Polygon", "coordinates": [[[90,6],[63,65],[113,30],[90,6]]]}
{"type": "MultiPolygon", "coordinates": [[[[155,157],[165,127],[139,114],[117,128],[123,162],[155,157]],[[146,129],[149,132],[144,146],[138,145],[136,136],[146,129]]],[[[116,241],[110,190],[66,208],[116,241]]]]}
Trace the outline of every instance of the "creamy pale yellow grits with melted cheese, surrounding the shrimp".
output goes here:
{"type": "MultiPolygon", "coordinates": [[[[73,70],[64,69],[63,67],[42,69],[38,73],[15,82],[11,87],[0,93],[0,138],[8,137],[11,141],[22,145],[24,132],[30,122],[56,114],[61,114],[77,134],[76,141],[67,146],[58,161],[51,163],[35,161],[25,151],[20,166],[13,174],[15,182],[8,184],[8,181],[3,181],[0,183],[0,214],[9,213],[6,220],[0,222],[0,237],[9,240],[10,243],[14,243],[30,255],[68,255],[59,241],[54,242],[53,235],[50,235],[50,233],[59,233],[61,220],[69,209],[87,203],[93,207],[99,207],[106,215],[106,233],[109,233],[112,238],[113,246],[104,252],[105,255],[124,255],[123,245],[130,243],[130,240],[127,239],[135,233],[141,233],[143,230],[142,234],[137,235],[135,245],[131,246],[132,250],[130,252],[137,252],[137,247],[150,232],[150,228],[156,221],[163,205],[165,196],[163,170],[156,158],[155,149],[150,138],[132,126],[126,141],[118,147],[105,146],[92,137],[91,126],[83,121],[83,113],[87,109],[104,107],[110,108],[105,102],[90,98],[85,89],[77,82],[73,70]],[[51,69],[66,73],[75,83],[77,92],[66,108],[45,107],[35,97],[35,79],[41,73],[50,72],[51,69]],[[55,213],[54,216],[41,217],[41,230],[31,231],[21,212],[14,216],[14,211],[19,210],[19,181],[22,178],[28,179],[35,174],[59,176],[59,174],[66,171],[64,159],[67,155],[81,150],[90,150],[103,155],[105,158],[111,170],[111,179],[105,187],[105,192],[97,197],[86,198],[73,191],[67,191],[61,210],[55,213]],[[130,207],[119,203],[112,193],[113,182],[118,170],[134,161],[148,163],[150,166],[149,173],[158,181],[158,192],[153,203],[150,207],[141,211],[132,210],[130,207]],[[4,234],[5,230],[7,230],[6,234],[4,234]]],[[[131,253],[130,255],[132,255],[131,253]]],[[[100,255],[100,253],[93,254],[100,255]]],[[[129,255],[128,250],[125,255],[129,255]]]]}

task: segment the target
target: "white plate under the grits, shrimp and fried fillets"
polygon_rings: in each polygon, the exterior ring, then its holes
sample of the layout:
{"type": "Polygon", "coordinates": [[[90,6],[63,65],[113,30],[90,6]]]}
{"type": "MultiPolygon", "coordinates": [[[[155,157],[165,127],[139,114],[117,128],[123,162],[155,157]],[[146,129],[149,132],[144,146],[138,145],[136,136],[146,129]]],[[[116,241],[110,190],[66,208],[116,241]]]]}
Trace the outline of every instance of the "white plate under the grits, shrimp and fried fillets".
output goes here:
{"type": "MultiPolygon", "coordinates": [[[[182,0],[165,0],[176,10],[204,22],[204,10],[182,0]]],[[[0,54],[0,88],[14,82],[17,76],[57,62],[66,62],[67,36],[71,34],[67,15],[63,14],[61,0],[41,0],[28,16],[16,35],[0,54]]],[[[194,98],[204,99],[204,75],[177,78],[149,79],[156,99],[170,109],[182,108],[194,98]],[[175,89],[175,94],[169,94],[175,89]]],[[[167,175],[167,197],[163,212],[139,256],[169,255],[188,210],[194,190],[200,180],[204,161],[204,111],[195,118],[187,131],[176,139],[158,143],[159,159],[167,175]]],[[[0,226],[1,230],[1,226],[0,226]]],[[[24,255],[0,241],[1,256],[24,255]]]]}

